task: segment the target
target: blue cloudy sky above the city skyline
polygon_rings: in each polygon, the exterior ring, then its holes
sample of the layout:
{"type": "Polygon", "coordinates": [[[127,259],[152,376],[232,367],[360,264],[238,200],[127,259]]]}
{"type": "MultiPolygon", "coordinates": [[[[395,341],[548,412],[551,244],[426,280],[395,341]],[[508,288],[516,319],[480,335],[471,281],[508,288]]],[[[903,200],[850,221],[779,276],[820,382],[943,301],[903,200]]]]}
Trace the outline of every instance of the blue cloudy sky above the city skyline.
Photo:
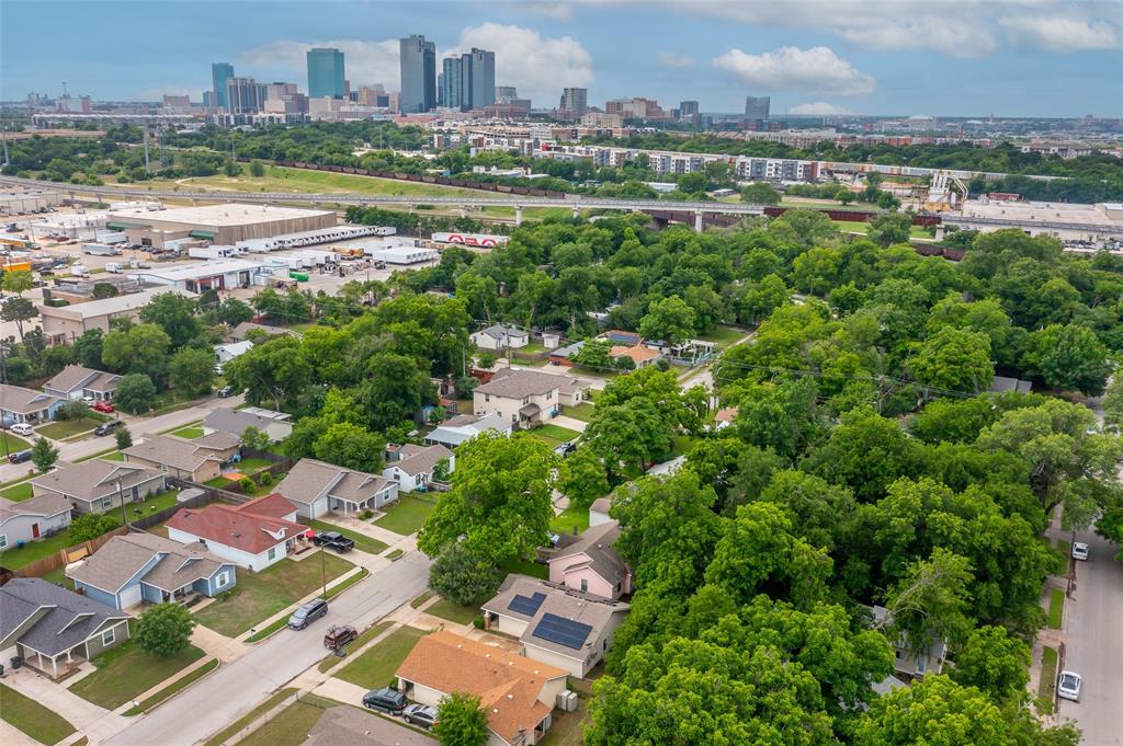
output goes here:
{"type": "Polygon", "coordinates": [[[210,88],[210,64],[307,90],[304,53],[345,53],[353,88],[399,88],[398,39],[439,59],[495,52],[495,82],[536,108],[1123,117],[1123,0],[0,0],[0,99],[158,100],[210,88]]]}

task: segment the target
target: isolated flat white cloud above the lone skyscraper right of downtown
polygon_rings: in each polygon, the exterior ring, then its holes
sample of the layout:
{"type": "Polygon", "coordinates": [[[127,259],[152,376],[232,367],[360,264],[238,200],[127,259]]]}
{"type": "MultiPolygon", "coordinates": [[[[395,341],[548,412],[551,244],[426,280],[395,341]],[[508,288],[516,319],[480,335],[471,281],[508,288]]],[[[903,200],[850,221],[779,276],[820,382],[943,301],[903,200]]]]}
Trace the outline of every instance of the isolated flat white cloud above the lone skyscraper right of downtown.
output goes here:
{"type": "Polygon", "coordinates": [[[857,96],[869,95],[877,90],[873,75],[859,73],[828,47],[780,47],[759,55],[730,49],[714,57],[713,64],[733,73],[742,85],[760,93],[794,90],[857,96]]]}

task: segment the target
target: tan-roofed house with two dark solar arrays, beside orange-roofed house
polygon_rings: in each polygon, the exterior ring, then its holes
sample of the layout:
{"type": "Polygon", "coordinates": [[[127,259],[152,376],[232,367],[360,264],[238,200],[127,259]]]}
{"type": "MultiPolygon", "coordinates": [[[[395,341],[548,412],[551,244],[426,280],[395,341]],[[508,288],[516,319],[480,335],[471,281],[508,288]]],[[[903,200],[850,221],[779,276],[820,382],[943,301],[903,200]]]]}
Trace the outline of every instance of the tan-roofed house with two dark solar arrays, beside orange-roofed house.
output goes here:
{"type": "Polygon", "coordinates": [[[584,679],[612,648],[631,607],[511,574],[482,609],[484,627],[518,637],[523,655],[584,679]]]}

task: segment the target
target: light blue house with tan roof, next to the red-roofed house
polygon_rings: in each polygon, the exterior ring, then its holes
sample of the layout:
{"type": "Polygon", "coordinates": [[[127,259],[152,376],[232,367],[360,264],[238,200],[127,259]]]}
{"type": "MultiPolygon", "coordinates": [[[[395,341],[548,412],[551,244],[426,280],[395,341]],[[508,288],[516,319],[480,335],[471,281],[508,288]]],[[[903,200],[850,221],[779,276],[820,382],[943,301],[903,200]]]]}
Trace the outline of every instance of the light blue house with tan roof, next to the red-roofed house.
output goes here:
{"type": "Polygon", "coordinates": [[[74,589],[127,609],[140,601],[184,602],[192,593],[217,596],[238,581],[236,565],[201,544],[180,544],[156,534],[113,536],[81,562],[66,567],[74,589]]]}

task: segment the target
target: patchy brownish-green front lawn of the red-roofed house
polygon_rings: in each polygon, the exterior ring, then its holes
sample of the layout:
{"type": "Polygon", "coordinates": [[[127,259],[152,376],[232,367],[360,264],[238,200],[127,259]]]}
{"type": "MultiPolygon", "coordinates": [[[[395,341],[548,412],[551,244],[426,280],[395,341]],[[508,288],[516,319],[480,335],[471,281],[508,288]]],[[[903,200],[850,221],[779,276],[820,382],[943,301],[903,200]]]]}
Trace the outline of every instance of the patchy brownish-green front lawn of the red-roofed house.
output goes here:
{"type": "MultiPolygon", "coordinates": [[[[355,567],[334,554],[327,554],[323,564],[329,581],[355,567]]],[[[230,596],[200,609],[195,619],[219,634],[237,637],[317,590],[321,583],[320,560],[314,558],[302,562],[284,559],[261,572],[243,570],[230,596]]]]}

